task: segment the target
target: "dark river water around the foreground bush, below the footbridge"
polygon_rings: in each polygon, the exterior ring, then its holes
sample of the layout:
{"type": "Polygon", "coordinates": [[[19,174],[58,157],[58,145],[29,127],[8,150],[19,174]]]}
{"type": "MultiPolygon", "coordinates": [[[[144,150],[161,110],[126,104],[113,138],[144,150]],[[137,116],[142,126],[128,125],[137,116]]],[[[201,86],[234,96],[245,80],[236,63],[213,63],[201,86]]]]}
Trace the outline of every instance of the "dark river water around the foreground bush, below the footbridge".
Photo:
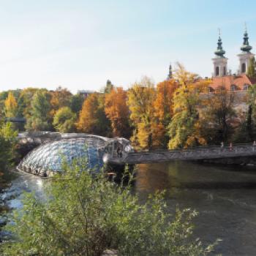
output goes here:
{"type": "MultiPolygon", "coordinates": [[[[1,195],[11,208],[21,206],[24,191],[42,196],[47,182],[20,173],[1,195]]],[[[195,236],[206,244],[221,238],[217,253],[256,255],[256,168],[169,162],[138,165],[135,190],[144,200],[166,190],[168,211],[176,207],[199,212],[195,236]]]]}

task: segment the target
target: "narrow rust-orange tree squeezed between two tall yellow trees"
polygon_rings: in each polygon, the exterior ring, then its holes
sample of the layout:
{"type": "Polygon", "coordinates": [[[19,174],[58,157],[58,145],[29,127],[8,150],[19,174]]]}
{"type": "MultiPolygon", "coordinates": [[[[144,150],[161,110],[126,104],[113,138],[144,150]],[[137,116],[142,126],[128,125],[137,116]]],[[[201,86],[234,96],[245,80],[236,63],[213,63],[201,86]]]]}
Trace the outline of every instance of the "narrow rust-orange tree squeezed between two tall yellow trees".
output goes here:
{"type": "Polygon", "coordinates": [[[177,89],[175,80],[165,80],[157,84],[157,96],[154,101],[154,144],[166,147],[168,142],[167,126],[173,116],[173,92],[177,89]]]}

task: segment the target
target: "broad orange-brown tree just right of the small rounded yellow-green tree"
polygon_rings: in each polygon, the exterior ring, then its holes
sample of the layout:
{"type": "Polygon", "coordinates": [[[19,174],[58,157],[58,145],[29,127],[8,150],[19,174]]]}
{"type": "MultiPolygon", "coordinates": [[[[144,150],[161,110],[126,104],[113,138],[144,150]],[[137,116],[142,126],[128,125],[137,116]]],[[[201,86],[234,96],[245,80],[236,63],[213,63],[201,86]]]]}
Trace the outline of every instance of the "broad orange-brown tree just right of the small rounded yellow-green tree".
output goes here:
{"type": "Polygon", "coordinates": [[[105,115],[104,108],[104,94],[90,94],[83,102],[83,107],[79,114],[78,123],[76,124],[78,131],[109,136],[110,121],[105,115]]]}

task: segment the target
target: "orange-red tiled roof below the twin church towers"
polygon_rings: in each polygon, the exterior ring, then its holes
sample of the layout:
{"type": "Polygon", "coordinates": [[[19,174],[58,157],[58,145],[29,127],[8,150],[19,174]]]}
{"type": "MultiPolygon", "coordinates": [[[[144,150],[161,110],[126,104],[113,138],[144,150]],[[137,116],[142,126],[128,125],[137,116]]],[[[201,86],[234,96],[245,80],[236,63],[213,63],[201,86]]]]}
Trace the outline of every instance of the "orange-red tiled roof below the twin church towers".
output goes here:
{"type": "Polygon", "coordinates": [[[224,87],[230,91],[231,86],[236,86],[236,90],[244,90],[244,85],[252,86],[256,83],[256,79],[248,78],[247,75],[226,75],[224,77],[214,77],[212,83],[209,85],[212,89],[216,90],[218,87],[224,87]]]}

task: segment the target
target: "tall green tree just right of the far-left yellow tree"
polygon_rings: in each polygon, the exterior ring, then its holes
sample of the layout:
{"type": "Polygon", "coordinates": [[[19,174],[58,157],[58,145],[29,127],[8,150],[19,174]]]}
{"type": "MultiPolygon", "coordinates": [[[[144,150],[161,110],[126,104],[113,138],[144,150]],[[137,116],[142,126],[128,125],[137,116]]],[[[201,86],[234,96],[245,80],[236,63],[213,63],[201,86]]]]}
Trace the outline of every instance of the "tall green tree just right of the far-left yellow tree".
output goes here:
{"type": "Polygon", "coordinates": [[[31,102],[30,117],[26,121],[26,129],[51,129],[50,94],[46,91],[37,91],[31,102]]]}

